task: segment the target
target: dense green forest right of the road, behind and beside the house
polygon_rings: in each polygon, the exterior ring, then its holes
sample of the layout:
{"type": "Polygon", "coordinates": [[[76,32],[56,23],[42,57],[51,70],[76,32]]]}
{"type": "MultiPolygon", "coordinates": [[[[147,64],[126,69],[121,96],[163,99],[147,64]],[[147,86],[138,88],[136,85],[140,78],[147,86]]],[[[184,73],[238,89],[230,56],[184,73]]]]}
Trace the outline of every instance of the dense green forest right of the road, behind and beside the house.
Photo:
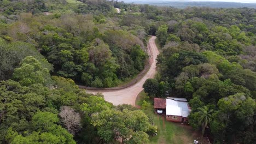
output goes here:
{"type": "Polygon", "coordinates": [[[254,143],[256,10],[168,10],[156,15],[162,52],[144,91],[187,98],[189,124],[213,143],[254,143]]]}

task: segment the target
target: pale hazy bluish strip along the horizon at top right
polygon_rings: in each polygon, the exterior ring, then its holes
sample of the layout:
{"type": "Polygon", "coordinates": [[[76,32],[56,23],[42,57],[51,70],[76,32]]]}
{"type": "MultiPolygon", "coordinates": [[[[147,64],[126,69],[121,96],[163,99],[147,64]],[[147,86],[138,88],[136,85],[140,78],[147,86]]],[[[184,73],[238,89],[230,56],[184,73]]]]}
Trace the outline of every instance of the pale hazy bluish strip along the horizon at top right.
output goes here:
{"type": "Polygon", "coordinates": [[[135,1],[125,0],[126,3],[150,4],[159,6],[170,6],[174,8],[185,7],[211,7],[211,8],[256,8],[256,3],[236,3],[236,2],[197,2],[197,1],[135,1]]]}

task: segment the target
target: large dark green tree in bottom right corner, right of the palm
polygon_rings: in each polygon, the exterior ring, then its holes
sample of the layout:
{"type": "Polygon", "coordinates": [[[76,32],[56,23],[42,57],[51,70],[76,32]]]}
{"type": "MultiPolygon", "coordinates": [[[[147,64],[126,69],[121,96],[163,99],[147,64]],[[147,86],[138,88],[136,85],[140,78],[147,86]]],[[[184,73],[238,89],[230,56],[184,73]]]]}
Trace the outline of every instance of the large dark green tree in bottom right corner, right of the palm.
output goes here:
{"type": "Polygon", "coordinates": [[[213,123],[210,124],[211,132],[216,135],[216,141],[252,143],[254,139],[251,128],[255,125],[253,120],[255,106],[255,100],[246,97],[243,93],[219,99],[219,110],[213,113],[213,123]],[[237,137],[237,139],[229,137],[237,137]]]}

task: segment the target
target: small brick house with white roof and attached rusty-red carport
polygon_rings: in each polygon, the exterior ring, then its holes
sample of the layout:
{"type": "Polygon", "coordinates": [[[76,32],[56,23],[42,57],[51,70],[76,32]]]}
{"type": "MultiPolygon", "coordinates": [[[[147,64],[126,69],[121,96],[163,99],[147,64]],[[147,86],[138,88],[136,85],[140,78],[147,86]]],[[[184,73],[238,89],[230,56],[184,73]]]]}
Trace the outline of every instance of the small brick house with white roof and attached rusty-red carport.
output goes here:
{"type": "Polygon", "coordinates": [[[168,97],[167,99],[154,99],[155,112],[162,110],[165,113],[167,121],[171,122],[188,122],[188,115],[191,109],[187,99],[168,97]]]}

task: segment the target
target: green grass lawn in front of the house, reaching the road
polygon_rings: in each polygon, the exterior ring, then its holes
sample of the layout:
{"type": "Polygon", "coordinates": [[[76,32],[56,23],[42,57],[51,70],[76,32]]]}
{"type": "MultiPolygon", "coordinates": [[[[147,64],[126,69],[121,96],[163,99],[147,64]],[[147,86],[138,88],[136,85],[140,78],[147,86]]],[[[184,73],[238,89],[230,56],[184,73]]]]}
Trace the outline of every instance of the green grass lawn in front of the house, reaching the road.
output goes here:
{"type": "Polygon", "coordinates": [[[142,91],[138,94],[136,105],[142,105],[143,100],[150,103],[150,106],[143,110],[150,119],[158,126],[158,135],[150,137],[150,143],[174,143],[174,144],[189,144],[197,138],[197,131],[193,131],[189,125],[167,122],[165,117],[154,113],[153,100],[147,97],[147,94],[142,91]]]}

